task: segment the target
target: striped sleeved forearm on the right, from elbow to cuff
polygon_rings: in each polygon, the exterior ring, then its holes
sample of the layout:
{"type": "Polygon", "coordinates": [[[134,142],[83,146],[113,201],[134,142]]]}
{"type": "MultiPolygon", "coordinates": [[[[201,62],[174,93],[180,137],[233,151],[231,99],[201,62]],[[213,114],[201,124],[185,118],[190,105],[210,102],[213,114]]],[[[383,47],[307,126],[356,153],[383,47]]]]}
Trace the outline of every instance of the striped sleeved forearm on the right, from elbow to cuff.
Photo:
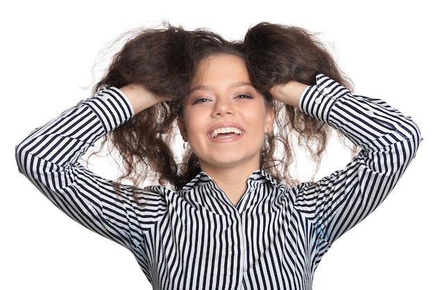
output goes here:
{"type": "Polygon", "coordinates": [[[304,113],[338,129],[363,150],[379,151],[411,140],[413,157],[421,136],[411,118],[381,99],[357,96],[327,76],[318,78],[318,85],[309,87],[299,101],[304,113]]]}

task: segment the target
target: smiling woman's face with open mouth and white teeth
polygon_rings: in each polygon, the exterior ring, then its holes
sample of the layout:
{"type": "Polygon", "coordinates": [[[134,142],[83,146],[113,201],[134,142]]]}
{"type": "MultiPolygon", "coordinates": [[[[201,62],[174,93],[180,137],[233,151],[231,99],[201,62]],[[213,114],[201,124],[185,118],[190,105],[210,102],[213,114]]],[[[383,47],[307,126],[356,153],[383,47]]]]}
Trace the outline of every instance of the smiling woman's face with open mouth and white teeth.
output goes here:
{"type": "Polygon", "coordinates": [[[179,127],[204,172],[257,170],[272,124],[272,109],[250,83],[243,59],[220,54],[199,64],[179,127]]]}

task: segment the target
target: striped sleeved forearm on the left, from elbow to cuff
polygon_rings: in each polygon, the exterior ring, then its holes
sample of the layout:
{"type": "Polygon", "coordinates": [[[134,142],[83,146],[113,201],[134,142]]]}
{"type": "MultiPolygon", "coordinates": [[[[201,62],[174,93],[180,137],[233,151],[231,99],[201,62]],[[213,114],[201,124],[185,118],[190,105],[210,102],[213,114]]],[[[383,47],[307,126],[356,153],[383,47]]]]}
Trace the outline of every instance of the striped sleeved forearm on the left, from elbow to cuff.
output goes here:
{"type": "Polygon", "coordinates": [[[31,170],[26,156],[49,161],[56,166],[75,163],[90,145],[133,116],[131,105],[122,92],[104,90],[84,99],[35,129],[17,146],[20,170],[31,170]]]}

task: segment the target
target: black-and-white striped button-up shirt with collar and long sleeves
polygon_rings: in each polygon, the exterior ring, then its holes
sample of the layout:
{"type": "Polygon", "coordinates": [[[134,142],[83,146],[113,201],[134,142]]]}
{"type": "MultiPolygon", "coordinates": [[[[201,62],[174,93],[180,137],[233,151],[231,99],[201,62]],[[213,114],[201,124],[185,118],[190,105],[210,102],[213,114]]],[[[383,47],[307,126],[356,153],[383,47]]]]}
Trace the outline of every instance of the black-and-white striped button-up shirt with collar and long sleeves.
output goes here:
{"type": "Polygon", "coordinates": [[[299,108],[361,147],[343,170],[293,188],[252,172],[233,206],[201,172],[181,191],[131,186],[81,166],[96,140],[133,116],[117,88],[101,90],[35,129],[16,148],[19,171],[81,225],[128,248],[154,289],[311,289],[331,244],[391,192],[420,131],[380,99],[353,95],[322,74],[299,108]]]}

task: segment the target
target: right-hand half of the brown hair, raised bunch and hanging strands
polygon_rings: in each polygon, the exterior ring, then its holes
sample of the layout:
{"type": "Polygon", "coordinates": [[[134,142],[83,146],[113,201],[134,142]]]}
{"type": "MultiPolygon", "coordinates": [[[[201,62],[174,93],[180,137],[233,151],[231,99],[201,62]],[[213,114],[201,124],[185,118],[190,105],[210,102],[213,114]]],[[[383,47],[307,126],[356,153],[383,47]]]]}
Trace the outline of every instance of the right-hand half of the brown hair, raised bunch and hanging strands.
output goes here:
{"type": "MultiPolygon", "coordinates": [[[[296,26],[285,26],[261,22],[250,28],[244,39],[246,64],[252,85],[260,90],[266,99],[271,99],[269,90],[277,84],[299,81],[315,85],[318,74],[326,74],[352,90],[352,82],[340,71],[336,61],[325,45],[314,33],[296,26]]],[[[331,135],[331,127],[299,111],[299,108],[275,103],[275,122],[277,130],[272,140],[281,145],[280,159],[274,159],[274,150],[265,152],[269,161],[268,168],[272,176],[295,184],[290,172],[290,163],[295,159],[292,145],[307,150],[314,161],[315,174],[331,135]]],[[[334,131],[338,134],[338,131],[334,131]]],[[[342,135],[338,136],[345,143],[342,135]]],[[[275,146],[275,145],[274,145],[275,146]]],[[[273,149],[273,148],[272,148],[273,149]]],[[[352,148],[355,152],[355,148],[352,148]]]]}

